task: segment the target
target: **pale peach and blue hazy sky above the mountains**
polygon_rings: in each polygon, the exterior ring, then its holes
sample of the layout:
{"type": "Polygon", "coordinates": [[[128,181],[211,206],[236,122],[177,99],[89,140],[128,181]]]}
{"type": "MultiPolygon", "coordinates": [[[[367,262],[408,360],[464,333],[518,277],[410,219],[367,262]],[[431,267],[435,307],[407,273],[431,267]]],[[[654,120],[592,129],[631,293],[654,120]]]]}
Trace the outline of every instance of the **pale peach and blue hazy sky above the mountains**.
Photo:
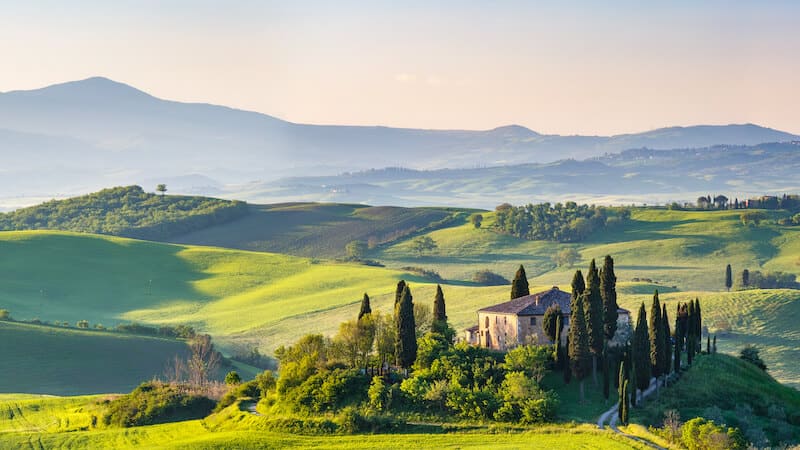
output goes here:
{"type": "Polygon", "coordinates": [[[101,75],[294,122],[800,134],[798,19],[796,1],[3,0],[0,91],[101,75]]]}

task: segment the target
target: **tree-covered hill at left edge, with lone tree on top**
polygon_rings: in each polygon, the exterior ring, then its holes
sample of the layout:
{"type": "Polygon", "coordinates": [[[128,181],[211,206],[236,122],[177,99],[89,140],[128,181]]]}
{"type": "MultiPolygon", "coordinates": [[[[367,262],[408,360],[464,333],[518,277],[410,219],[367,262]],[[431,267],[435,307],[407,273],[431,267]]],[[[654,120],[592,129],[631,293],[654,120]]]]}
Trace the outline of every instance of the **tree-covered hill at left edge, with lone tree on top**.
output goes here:
{"type": "Polygon", "coordinates": [[[0,229],[63,230],[157,240],[229,222],[248,212],[247,204],[240,201],[156,195],[140,186],[125,186],[0,214],[0,229]]]}

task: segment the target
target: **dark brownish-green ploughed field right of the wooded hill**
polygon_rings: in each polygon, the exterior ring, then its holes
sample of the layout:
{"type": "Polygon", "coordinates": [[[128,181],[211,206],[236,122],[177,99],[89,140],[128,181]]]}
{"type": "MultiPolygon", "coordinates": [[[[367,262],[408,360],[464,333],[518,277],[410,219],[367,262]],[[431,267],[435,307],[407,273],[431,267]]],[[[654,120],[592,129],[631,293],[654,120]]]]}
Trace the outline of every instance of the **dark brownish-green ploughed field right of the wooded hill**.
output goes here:
{"type": "Polygon", "coordinates": [[[458,211],[336,203],[250,205],[250,214],[242,219],[170,242],[333,258],[346,256],[351,241],[391,242],[458,211]]]}

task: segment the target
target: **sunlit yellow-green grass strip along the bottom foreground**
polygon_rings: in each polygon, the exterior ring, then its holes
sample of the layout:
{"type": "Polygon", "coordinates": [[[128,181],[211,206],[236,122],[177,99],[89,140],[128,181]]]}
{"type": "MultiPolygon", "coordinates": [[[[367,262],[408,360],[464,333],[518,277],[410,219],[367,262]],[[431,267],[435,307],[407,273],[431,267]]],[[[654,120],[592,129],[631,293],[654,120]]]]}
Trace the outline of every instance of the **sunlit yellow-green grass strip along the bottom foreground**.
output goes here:
{"type": "Polygon", "coordinates": [[[60,448],[643,448],[590,425],[544,425],[524,432],[478,428],[472,432],[303,436],[267,431],[265,417],[231,407],[204,420],[127,429],[95,428],[101,396],[0,395],[0,447],[60,448]]]}

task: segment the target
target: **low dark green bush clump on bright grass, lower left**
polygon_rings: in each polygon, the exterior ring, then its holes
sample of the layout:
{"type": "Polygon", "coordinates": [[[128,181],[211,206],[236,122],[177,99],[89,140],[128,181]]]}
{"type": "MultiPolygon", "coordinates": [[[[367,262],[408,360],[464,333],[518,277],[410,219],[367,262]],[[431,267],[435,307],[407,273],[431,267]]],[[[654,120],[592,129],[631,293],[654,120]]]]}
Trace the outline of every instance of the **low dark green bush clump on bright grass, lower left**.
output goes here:
{"type": "Polygon", "coordinates": [[[142,383],[130,394],[108,403],[103,423],[136,427],[199,419],[214,408],[214,401],[189,394],[178,386],[159,382],[142,383]]]}

